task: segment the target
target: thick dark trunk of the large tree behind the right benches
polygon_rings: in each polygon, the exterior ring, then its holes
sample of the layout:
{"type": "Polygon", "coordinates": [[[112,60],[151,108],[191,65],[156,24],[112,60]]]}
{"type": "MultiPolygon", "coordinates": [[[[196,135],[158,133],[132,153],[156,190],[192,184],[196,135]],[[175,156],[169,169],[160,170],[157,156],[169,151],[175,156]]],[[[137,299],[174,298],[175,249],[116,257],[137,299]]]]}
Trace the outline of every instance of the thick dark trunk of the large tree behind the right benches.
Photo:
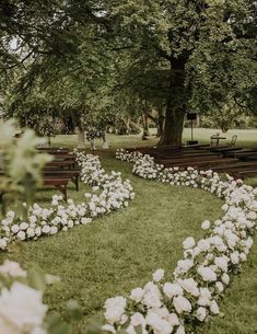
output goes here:
{"type": "Polygon", "coordinates": [[[186,114],[188,94],[185,89],[184,57],[173,58],[171,61],[171,88],[167,96],[165,123],[159,146],[182,146],[184,117],[186,114]]]}

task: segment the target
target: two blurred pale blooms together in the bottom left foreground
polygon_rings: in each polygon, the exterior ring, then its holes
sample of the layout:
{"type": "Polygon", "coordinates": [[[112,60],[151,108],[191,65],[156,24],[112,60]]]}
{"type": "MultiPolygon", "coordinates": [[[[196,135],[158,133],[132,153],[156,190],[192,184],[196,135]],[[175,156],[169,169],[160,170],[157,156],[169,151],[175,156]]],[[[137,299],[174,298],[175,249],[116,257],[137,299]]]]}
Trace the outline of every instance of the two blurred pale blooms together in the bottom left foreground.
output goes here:
{"type": "Polygon", "coordinates": [[[0,333],[46,334],[44,321],[47,306],[43,292],[22,283],[27,275],[16,262],[5,260],[0,275],[11,285],[0,289],[0,333]]]}

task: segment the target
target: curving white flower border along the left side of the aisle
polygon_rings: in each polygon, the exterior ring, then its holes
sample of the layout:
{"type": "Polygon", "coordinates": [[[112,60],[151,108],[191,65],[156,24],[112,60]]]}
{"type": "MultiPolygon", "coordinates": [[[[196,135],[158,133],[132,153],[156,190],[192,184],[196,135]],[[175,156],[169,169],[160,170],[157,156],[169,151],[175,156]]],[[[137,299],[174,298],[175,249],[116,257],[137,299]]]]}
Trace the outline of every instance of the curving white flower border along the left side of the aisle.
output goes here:
{"type": "Polygon", "coordinates": [[[77,152],[77,158],[81,165],[81,180],[92,186],[92,194],[84,194],[85,200],[80,204],[74,204],[72,199],[63,204],[62,196],[55,195],[50,208],[34,204],[25,221],[14,211],[9,211],[0,222],[1,250],[15,240],[37,240],[81,223],[90,223],[97,216],[127,207],[129,200],[133,199],[132,186],[129,180],[122,181],[120,173],[113,171],[107,174],[95,156],[77,152]]]}

